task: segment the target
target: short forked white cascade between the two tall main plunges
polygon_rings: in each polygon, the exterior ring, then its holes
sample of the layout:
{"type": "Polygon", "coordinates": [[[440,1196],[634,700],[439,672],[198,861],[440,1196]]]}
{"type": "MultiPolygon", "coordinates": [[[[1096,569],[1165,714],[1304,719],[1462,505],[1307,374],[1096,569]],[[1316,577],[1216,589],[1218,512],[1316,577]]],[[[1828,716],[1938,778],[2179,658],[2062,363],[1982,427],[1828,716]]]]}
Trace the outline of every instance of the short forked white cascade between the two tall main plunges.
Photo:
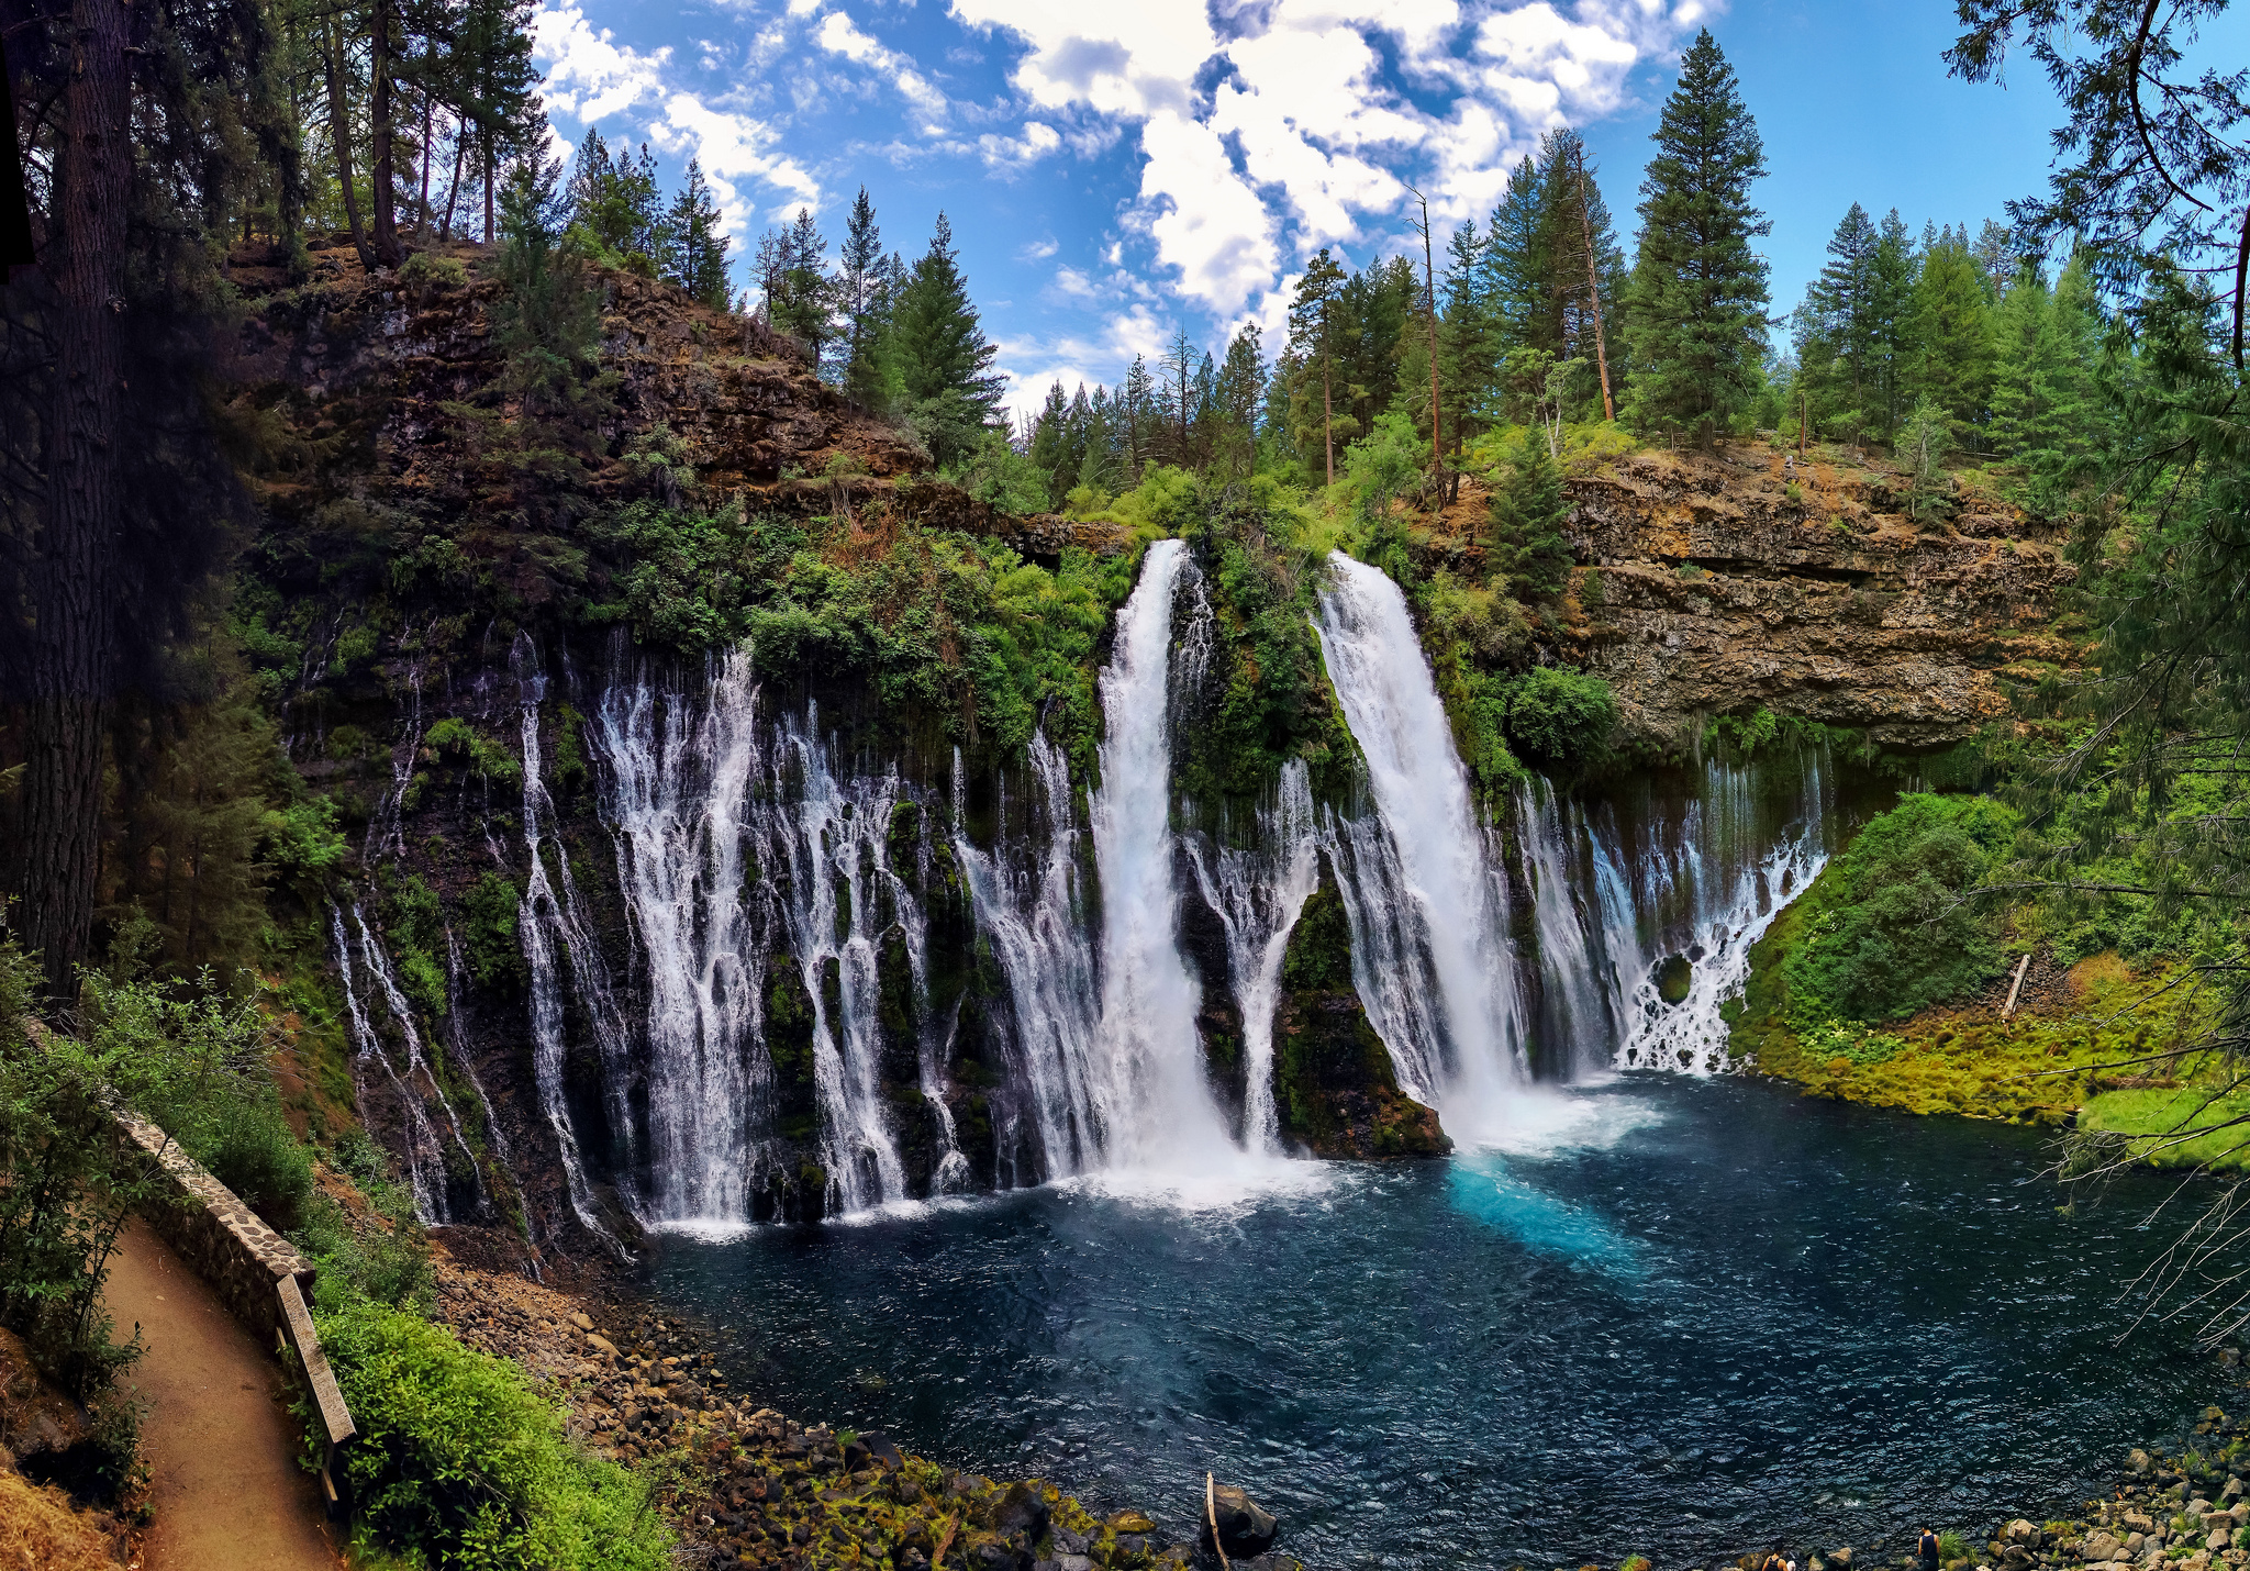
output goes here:
{"type": "Polygon", "coordinates": [[[1256,849],[1206,849],[1190,842],[1195,880],[1226,932],[1226,966],[1242,1011],[1242,1141],[1258,1155],[1280,1155],[1274,1107],[1274,1011],[1289,930],[1321,882],[1321,840],[1305,763],[1292,758],[1280,792],[1258,813],[1256,849]]]}

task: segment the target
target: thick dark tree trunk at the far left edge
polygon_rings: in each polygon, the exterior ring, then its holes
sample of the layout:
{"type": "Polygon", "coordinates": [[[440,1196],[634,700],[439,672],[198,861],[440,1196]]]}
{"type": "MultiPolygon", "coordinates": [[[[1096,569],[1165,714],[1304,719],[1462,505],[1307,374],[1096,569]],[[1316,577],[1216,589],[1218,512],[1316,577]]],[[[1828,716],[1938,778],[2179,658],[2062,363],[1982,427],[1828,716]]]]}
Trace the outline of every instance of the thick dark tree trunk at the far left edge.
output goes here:
{"type": "Polygon", "coordinates": [[[56,286],[47,495],[34,565],[22,914],[47,993],[76,999],[101,871],[101,734],[115,664],[110,567],[124,425],[124,257],[133,205],[126,0],[74,0],[47,275],[56,286]]]}

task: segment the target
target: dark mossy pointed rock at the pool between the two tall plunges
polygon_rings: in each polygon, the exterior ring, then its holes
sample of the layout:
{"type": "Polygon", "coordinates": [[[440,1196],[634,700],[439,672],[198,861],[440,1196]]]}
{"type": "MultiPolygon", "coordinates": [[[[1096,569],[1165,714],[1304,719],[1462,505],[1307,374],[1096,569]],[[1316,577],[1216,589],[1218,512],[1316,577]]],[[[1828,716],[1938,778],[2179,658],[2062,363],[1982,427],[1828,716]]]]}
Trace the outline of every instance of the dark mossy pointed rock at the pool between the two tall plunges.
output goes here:
{"type": "Polygon", "coordinates": [[[1274,1110],[1316,1157],[1440,1157],[1438,1112],[1400,1092],[1390,1051],[1352,988],[1352,932],[1325,858],[1289,932],[1274,1017],[1274,1110]]]}

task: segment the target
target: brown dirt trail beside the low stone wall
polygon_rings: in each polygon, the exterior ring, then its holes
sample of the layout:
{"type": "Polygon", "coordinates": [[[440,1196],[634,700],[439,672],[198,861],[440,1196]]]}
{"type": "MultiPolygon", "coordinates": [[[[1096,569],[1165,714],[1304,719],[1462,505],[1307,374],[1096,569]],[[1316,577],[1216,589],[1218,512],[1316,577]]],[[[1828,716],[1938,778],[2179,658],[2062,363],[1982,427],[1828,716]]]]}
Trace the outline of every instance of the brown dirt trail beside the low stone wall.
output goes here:
{"type": "Polygon", "coordinates": [[[126,1375],[148,1400],[155,1526],[146,1571],[333,1571],[342,1564],[320,1483],[297,1465],[281,1366],[202,1278],[135,1218],[104,1303],[117,1332],[140,1321],[148,1353],[126,1375]]]}

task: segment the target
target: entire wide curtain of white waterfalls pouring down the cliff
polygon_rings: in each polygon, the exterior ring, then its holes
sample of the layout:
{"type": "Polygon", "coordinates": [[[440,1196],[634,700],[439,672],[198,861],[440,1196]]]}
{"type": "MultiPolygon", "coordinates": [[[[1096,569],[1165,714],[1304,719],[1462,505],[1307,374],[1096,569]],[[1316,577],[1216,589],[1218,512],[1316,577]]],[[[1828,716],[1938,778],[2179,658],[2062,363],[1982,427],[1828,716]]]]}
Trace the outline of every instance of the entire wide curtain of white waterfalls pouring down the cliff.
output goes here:
{"type": "MultiPolygon", "coordinates": [[[[594,691],[572,677],[596,822],[565,819],[547,756],[574,720],[547,713],[518,639],[508,860],[533,1085],[578,1218],[724,1231],[1082,1175],[1264,1184],[1289,1148],[1282,959],[1323,878],[1400,1089],[1458,1141],[1498,1139],[1534,1076],[1724,1062],[1719,1004],[1829,849],[1825,761],[1478,801],[1400,587],[1332,556],[1314,630],[1357,806],[1292,761],[1217,819],[1174,797],[1217,637],[1179,540],[1148,549],[1118,610],[1091,779],[1044,734],[981,781],[961,749],[932,779],[927,754],[862,740],[864,718],[760,695],[747,648],[668,673],[619,646],[594,691]],[[1213,1029],[1240,1033],[1224,1071],[1213,1029]]],[[[412,1094],[439,1087],[356,912],[335,945],[369,1085],[405,1105],[407,1177],[443,1220],[461,1125],[412,1094]],[[398,1017],[398,1067],[376,1013],[398,1017]]],[[[468,1085],[497,1137],[472,1067],[468,1085]]]]}

